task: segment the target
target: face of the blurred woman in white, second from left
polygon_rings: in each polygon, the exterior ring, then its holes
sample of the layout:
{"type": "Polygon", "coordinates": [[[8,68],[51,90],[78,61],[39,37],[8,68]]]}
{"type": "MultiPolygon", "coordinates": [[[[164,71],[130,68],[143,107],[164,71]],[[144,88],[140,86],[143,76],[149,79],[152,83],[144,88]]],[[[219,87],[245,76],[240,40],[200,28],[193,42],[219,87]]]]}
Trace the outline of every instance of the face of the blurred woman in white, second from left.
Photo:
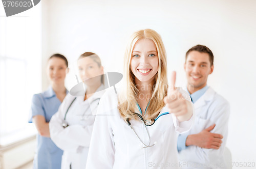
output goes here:
{"type": "Polygon", "coordinates": [[[92,58],[81,58],[78,60],[77,65],[79,70],[79,76],[87,86],[97,86],[99,83],[101,83],[100,75],[104,74],[103,67],[99,67],[92,58]]]}

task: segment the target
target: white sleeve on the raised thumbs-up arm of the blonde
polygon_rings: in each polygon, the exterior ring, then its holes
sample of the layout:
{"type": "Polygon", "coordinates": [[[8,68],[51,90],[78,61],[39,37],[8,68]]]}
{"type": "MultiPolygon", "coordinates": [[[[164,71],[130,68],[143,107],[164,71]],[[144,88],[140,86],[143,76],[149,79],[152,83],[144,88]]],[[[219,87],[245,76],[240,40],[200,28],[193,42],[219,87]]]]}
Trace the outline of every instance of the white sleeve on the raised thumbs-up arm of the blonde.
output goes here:
{"type": "Polygon", "coordinates": [[[189,101],[189,103],[190,103],[190,105],[192,107],[191,110],[193,111],[193,115],[191,116],[191,118],[189,120],[187,120],[187,121],[184,121],[184,122],[179,122],[177,117],[174,114],[172,114],[173,123],[174,123],[176,132],[184,133],[184,132],[187,132],[188,130],[190,130],[192,125],[194,124],[194,121],[195,121],[195,116],[194,116],[195,108],[194,108],[194,104],[191,102],[191,98],[188,95],[188,93],[186,91],[184,91],[183,89],[181,89],[181,88],[177,88],[177,89],[182,94],[182,97],[184,97],[186,100],[189,101]]]}

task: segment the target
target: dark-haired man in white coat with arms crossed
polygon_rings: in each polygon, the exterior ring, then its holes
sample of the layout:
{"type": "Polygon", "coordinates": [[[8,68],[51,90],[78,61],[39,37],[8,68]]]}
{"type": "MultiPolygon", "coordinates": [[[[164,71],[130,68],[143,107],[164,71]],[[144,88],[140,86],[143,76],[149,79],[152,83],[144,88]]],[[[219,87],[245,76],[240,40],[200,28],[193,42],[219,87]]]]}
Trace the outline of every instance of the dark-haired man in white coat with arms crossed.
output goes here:
{"type": "Polygon", "coordinates": [[[229,103],[207,86],[214,70],[214,55],[203,45],[186,53],[184,64],[187,87],[195,106],[195,124],[177,140],[182,168],[226,168],[224,149],[227,140],[229,103]]]}

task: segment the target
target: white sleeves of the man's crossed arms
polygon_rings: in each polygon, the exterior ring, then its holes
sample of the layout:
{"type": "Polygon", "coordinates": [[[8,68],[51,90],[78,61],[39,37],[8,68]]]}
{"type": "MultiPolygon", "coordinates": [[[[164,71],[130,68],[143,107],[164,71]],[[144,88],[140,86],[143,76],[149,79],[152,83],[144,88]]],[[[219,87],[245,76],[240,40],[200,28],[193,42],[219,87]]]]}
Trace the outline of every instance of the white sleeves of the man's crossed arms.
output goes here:
{"type": "Polygon", "coordinates": [[[230,114],[230,107],[227,101],[221,101],[221,104],[212,105],[209,108],[212,111],[210,122],[216,124],[215,128],[211,130],[212,133],[223,135],[220,149],[205,149],[198,146],[188,146],[185,150],[180,151],[180,155],[185,159],[183,161],[193,161],[203,164],[214,163],[222,157],[227,140],[228,132],[228,118],[230,114]]]}

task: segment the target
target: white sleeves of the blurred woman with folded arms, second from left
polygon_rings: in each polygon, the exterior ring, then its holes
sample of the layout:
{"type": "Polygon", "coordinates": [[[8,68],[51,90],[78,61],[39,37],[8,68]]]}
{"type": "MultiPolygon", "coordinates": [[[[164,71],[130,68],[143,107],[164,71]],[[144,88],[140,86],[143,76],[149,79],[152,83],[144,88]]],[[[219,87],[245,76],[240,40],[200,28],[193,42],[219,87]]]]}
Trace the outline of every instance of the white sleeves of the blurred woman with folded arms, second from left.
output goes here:
{"type": "Polygon", "coordinates": [[[68,151],[76,151],[79,146],[89,147],[93,129],[93,124],[87,127],[81,125],[62,127],[64,116],[72,101],[73,98],[65,98],[49,123],[50,136],[53,142],[60,149],[68,151]]]}

